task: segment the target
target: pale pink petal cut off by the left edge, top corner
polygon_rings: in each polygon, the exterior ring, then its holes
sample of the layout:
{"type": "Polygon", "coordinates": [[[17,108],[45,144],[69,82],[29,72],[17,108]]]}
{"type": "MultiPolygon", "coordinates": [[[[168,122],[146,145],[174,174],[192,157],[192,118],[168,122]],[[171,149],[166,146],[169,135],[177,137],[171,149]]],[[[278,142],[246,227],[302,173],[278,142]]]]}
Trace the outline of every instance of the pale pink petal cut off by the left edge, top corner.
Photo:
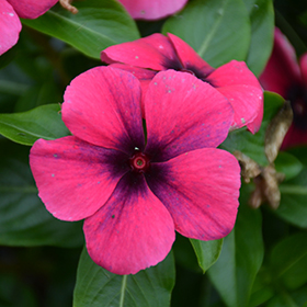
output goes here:
{"type": "Polygon", "coordinates": [[[0,0],[0,56],[8,52],[19,41],[21,22],[14,9],[5,1],[0,0]]]}

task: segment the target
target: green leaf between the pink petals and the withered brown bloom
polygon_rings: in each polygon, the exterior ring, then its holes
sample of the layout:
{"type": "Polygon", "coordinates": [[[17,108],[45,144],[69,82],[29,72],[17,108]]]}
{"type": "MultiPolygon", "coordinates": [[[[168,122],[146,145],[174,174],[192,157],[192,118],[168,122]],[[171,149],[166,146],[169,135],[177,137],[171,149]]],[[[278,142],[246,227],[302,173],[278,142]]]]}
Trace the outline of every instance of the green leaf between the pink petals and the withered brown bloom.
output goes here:
{"type": "Polygon", "coordinates": [[[260,130],[254,135],[246,128],[234,130],[229,133],[220,148],[230,152],[239,150],[261,166],[269,164],[264,152],[265,130],[283,104],[284,99],[278,94],[264,92],[264,114],[260,130]]]}

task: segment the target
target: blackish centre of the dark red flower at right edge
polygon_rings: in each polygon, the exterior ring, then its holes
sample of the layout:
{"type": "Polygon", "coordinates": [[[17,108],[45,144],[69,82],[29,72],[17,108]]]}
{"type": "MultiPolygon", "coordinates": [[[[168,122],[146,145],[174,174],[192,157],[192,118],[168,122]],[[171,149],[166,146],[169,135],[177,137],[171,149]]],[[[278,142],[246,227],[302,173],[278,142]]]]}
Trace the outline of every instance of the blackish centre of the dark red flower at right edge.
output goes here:
{"type": "Polygon", "coordinates": [[[307,130],[307,89],[304,86],[293,86],[286,93],[293,110],[293,125],[307,130]]]}

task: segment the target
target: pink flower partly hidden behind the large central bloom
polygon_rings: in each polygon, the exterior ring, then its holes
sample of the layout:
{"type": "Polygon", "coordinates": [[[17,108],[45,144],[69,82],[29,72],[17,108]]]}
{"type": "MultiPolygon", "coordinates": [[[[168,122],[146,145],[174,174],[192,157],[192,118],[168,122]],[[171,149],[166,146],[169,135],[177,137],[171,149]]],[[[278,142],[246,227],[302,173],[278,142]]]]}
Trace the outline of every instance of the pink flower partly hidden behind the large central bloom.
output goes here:
{"type": "Polygon", "coordinates": [[[157,33],[111,46],[101,53],[101,59],[133,72],[141,81],[144,92],[158,71],[190,72],[218,90],[231,103],[235,110],[231,128],[247,126],[252,133],[260,128],[263,91],[243,61],[231,60],[214,69],[191,46],[170,33],[168,37],[157,33]]]}

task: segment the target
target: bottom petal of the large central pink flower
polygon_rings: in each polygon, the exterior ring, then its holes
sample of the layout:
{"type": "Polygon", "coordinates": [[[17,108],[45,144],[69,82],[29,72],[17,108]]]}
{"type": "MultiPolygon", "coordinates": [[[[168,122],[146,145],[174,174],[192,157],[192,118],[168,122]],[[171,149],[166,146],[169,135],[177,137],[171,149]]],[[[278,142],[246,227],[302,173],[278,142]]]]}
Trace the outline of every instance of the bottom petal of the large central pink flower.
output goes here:
{"type": "Polygon", "coordinates": [[[115,274],[156,265],[174,241],[173,220],[143,175],[127,173],[107,203],[84,221],[92,260],[115,274]]]}

